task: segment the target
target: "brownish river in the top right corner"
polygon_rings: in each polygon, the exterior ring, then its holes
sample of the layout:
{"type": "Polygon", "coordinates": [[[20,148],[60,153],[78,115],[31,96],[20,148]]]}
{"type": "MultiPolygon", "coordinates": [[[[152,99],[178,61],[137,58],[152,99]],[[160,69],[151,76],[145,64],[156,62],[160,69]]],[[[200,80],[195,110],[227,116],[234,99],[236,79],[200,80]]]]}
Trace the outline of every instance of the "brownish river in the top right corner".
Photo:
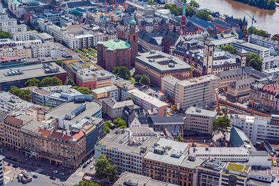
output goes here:
{"type": "MultiPolygon", "coordinates": [[[[188,0],[190,1],[190,0],[188,0]]],[[[257,29],[263,29],[271,34],[279,33],[279,7],[276,10],[264,10],[249,6],[232,0],[195,0],[199,3],[200,8],[208,8],[214,12],[219,12],[221,15],[227,14],[236,18],[246,16],[248,27],[251,25],[251,19],[246,15],[255,15],[257,23],[254,26],[257,29]],[[246,13],[244,13],[244,11],[246,13]]]]}

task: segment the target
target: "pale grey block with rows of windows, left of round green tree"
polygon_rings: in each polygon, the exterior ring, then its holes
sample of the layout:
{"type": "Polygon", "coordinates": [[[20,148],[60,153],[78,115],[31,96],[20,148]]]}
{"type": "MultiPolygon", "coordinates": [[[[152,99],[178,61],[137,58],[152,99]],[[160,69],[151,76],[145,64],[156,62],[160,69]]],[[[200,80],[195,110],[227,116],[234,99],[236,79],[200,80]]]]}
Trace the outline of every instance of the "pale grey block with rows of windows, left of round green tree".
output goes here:
{"type": "Polygon", "coordinates": [[[213,134],[213,121],[217,117],[216,111],[189,107],[186,112],[184,130],[193,130],[204,134],[213,134]]]}

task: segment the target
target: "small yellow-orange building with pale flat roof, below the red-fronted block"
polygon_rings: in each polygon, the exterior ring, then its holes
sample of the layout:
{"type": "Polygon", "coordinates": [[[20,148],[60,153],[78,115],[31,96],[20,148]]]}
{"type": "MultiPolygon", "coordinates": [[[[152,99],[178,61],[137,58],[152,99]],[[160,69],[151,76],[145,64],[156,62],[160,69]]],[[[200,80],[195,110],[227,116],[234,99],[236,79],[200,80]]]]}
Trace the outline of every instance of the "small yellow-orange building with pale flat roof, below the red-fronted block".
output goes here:
{"type": "Polygon", "coordinates": [[[93,99],[100,100],[102,98],[114,98],[114,100],[118,100],[118,88],[115,85],[112,86],[105,86],[103,88],[97,88],[92,90],[93,99]]]}

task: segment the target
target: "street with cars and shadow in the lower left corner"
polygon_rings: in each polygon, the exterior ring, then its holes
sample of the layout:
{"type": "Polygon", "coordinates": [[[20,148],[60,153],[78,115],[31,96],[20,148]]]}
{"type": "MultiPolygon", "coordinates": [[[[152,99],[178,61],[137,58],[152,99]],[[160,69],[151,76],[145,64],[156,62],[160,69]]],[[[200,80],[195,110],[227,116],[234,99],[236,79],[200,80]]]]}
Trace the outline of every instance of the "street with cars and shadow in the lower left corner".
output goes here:
{"type": "MultiPolygon", "coordinates": [[[[36,174],[38,178],[33,178],[31,183],[24,185],[75,185],[82,180],[84,173],[94,173],[95,169],[90,169],[93,166],[95,160],[90,162],[84,169],[82,168],[83,164],[79,166],[78,169],[70,170],[67,168],[62,168],[61,166],[56,166],[55,164],[50,164],[48,162],[39,162],[33,160],[30,157],[24,157],[24,155],[17,153],[15,150],[3,150],[3,154],[8,157],[16,158],[17,161],[4,159],[5,169],[4,171],[4,183],[5,185],[19,185],[22,183],[17,182],[17,174],[21,171],[27,171],[30,176],[36,174]],[[7,164],[10,163],[10,166],[7,164]],[[17,168],[13,165],[18,166],[17,168]],[[59,173],[53,173],[56,170],[59,173]],[[55,180],[50,179],[50,176],[56,178],[55,180]],[[38,184],[40,183],[40,184],[38,184]]],[[[87,160],[88,161],[88,160],[87,160]]]]}

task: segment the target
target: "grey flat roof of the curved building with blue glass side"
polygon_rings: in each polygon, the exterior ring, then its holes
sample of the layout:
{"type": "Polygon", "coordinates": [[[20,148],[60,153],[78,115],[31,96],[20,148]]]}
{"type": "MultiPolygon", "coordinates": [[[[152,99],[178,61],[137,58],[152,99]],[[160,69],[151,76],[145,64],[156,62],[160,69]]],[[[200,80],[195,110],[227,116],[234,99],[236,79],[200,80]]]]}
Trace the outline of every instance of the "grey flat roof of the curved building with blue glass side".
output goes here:
{"type": "Polygon", "coordinates": [[[52,109],[52,111],[50,111],[47,115],[53,116],[54,118],[63,118],[64,116],[66,116],[66,114],[70,114],[70,112],[74,111],[84,103],[86,104],[86,109],[70,121],[79,122],[85,116],[93,116],[98,111],[100,111],[100,109],[102,109],[101,104],[96,101],[66,102],[64,104],[61,104],[59,107],[52,109]]]}

